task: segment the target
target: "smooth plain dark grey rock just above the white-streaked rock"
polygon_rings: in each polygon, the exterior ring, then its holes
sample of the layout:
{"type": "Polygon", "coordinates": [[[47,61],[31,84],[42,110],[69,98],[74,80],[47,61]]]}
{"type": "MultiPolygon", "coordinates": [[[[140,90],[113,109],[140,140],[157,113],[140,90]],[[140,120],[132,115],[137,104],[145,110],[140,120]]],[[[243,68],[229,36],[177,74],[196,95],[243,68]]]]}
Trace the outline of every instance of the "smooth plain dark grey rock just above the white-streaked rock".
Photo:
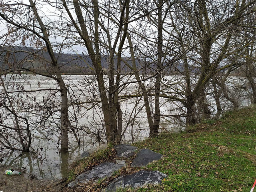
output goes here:
{"type": "Polygon", "coordinates": [[[144,167],[148,165],[150,162],[160,160],[162,158],[162,154],[156,153],[149,149],[142,149],[136,154],[136,158],[133,160],[131,166],[132,167],[144,167]]]}

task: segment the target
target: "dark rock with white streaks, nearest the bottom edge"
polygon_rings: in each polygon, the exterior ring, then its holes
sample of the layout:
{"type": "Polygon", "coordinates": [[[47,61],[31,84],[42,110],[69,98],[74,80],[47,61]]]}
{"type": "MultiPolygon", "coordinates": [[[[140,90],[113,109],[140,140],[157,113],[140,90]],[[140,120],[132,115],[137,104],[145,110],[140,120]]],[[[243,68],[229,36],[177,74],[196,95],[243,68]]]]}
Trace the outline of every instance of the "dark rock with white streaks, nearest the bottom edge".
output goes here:
{"type": "Polygon", "coordinates": [[[145,185],[158,185],[167,175],[159,171],[141,170],[131,175],[120,176],[108,185],[105,192],[115,192],[118,188],[140,188],[145,185]]]}

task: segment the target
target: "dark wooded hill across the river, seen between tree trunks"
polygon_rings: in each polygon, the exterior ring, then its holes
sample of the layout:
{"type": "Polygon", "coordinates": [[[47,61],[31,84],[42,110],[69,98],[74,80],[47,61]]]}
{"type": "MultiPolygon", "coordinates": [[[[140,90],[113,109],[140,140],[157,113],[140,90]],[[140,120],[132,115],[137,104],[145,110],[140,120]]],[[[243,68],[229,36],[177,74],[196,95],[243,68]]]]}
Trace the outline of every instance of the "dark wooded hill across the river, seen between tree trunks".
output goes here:
{"type": "MultiPolygon", "coordinates": [[[[94,74],[92,60],[88,55],[67,53],[54,54],[58,60],[60,69],[64,74],[94,74]]],[[[106,72],[108,70],[107,60],[108,55],[102,56],[101,64],[102,68],[106,70],[106,72]]],[[[122,60],[132,66],[132,60],[130,60],[130,58],[123,57],[122,60]]],[[[117,59],[114,60],[114,63],[117,63],[117,59]]],[[[145,59],[136,59],[136,66],[140,74],[153,74],[156,72],[155,63],[150,64],[145,59]]],[[[37,72],[52,72],[51,58],[47,50],[37,50],[22,46],[0,47],[1,70],[8,70],[13,67],[22,67],[37,72]],[[9,52],[5,50],[8,50],[9,52]]],[[[196,68],[193,69],[192,66],[191,69],[195,73],[198,70],[196,68]]],[[[121,62],[121,72],[130,73],[132,70],[128,68],[124,62],[121,62]]],[[[183,72],[184,64],[176,62],[174,64],[169,64],[169,66],[162,71],[162,74],[173,75],[182,74],[183,72]]]]}

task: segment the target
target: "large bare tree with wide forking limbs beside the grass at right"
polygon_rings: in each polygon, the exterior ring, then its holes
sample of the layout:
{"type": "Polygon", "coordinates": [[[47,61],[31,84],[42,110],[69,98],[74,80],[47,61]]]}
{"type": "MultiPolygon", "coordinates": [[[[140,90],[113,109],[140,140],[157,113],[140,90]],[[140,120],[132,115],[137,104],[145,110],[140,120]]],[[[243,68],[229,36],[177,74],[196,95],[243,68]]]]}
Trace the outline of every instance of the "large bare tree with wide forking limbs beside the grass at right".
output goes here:
{"type": "Polygon", "coordinates": [[[251,13],[254,4],[254,1],[241,1],[233,9],[231,1],[185,1],[176,7],[176,11],[170,13],[172,26],[176,31],[174,38],[180,41],[183,54],[182,75],[185,77],[187,125],[197,122],[198,98],[205,93],[209,80],[226,57],[236,25],[241,18],[251,13]],[[183,17],[180,17],[181,13],[178,12],[180,6],[183,17]]]}

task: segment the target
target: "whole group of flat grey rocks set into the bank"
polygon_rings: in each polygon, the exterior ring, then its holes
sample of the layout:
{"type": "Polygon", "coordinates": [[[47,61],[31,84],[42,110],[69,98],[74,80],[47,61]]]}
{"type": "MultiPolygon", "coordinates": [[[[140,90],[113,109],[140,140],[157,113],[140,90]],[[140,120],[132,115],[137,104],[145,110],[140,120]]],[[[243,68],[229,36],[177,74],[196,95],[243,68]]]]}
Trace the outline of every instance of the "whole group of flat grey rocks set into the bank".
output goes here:
{"type": "MultiPolygon", "coordinates": [[[[116,156],[121,158],[129,158],[135,155],[138,150],[137,147],[121,144],[114,146],[117,154],[116,156]]],[[[88,157],[90,152],[82,153],[81,157],[88,157]]],[[[162,154],[153,152],[149,149],[142,149],[136,154],[136,158],[133,160],[132,167],[144,167],[153,161],[160,160],[162,154]]],[[[106,162],[99,164],[92,168],[90,171],[86,171],[68,184],[69,187],[74,187],[76,185],[84,185],[88,182],[96,183],[98,180],[103,178],[108,178],[112,174],[119,170],[120,168],[126,166],[125,160],[116,161],[116,163],[106,162]]],[[[162,182],[163,178],[167,177],[166,174],[159,171],[146,171],[141,170],[131,175],[120,176],[116,178],[110,185],[108,185],[104,191],[105,192],[115,192],[117,188],[139,188],[148,184],[158,185],[162,182]]]]}

